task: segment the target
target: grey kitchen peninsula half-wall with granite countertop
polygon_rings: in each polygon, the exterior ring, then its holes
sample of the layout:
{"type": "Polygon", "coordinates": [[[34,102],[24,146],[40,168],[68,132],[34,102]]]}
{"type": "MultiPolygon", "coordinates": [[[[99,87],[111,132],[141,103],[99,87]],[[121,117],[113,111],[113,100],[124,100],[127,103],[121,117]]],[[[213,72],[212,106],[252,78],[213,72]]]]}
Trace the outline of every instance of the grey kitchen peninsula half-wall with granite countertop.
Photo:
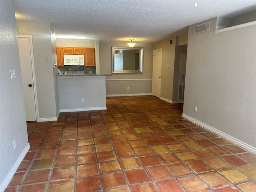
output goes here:
{"type": "Polygon", "coordinates": [[[58,74],[60,112],[106,110],[106,76],[112,74],[58,74]]]}

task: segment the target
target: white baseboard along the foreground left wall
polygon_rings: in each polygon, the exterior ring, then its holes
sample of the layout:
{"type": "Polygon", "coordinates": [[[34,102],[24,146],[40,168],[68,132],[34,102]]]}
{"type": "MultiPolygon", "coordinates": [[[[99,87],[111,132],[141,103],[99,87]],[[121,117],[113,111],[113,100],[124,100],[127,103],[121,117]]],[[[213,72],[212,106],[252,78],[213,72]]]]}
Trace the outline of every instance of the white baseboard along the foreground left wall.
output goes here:
{"type": "Polygon", "coordinates": [[[15,174],[16,170],[18,169],[18,167],[20,166],[20,163],[24,159],[24,157],[27,154],[29,148],[30,148],[30,145],[28,143],[27,146],[22,151],[22,153],[20,154],[20,156],[18,157],[18,159],[16,160],[14,166],[12,167],[12,169],[10,170],[8,175],[4,178],[4,181],[2,182],[2,184],[0,186],[0,192],[4,192],[4,190],[6,189],[6,187],[9,184],[9,182],[12,180],[12,177],[14,176],[14,174],[15,174]]]}

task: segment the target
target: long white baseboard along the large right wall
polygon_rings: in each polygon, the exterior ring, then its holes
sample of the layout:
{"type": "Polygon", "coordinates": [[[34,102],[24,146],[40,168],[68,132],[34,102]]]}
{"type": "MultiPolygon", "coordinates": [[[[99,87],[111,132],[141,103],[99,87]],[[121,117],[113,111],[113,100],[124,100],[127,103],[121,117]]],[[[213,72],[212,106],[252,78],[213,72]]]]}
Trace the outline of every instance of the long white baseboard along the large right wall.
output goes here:
{"type": "Polygon", "coordinates": [[[198,125],[202,126],[203,128],[206,128],[207,130],[212,131],[212,132],[216,133],[219,136],[222,136],[226,140],[229,140],[230,142],[233,142],[233,143],[237,144],[238,146],[256,154],[256,148],[254,148],[254,147],[252,147],[252,146],[250,146],[250,145],[248,145],[248,144],[246,144],[246,143],[244,143],[244,142],[242,142],[242,141],[240,141],[240,140],[238,140],[238,139],[236,139],[236,138],[234,138],[234,137],[232,137],[232,136],[230,136],[230,135],[228,135],[228,134],[226,134],[222,131],[219,131],[216,128],[213,128],[213,127],[211,127],[211,126],[209,126],[209,125],[207,125],[203,122],[200,122],[200,121],[198,121],[198,120],[196,120],[196,119],[194,119],[194,118],[192,118],[192,117],[190,117],[190,116],[188,116],[184,113],[182,114],[182,117],[184,117],[187,120],[190,120],[191,122],[193,122],[195,124],[198,124],[198,125]]]}

